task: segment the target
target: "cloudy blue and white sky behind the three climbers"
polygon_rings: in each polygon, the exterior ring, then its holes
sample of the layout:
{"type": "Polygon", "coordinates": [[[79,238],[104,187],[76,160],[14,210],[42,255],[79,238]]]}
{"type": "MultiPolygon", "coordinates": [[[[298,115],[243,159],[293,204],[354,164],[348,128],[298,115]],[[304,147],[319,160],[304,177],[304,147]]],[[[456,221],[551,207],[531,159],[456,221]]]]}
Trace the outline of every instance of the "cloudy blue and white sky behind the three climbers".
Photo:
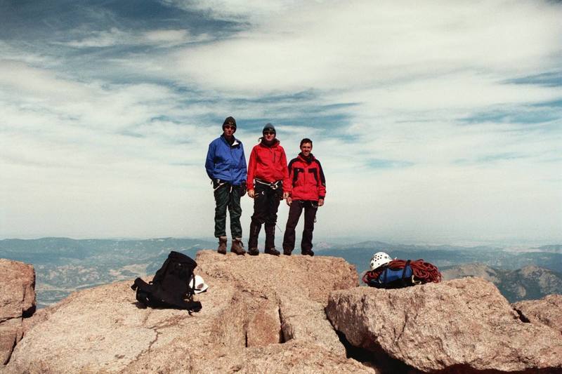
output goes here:
{"type": "Polygon", "coordinates": [[[247,158],[267,122],[289,159],[313,140],[315,241],[561,243],[560,20],[540,0],[0,0],[0,238],[212,237],[204,159],[234,116],[247,158]]]}

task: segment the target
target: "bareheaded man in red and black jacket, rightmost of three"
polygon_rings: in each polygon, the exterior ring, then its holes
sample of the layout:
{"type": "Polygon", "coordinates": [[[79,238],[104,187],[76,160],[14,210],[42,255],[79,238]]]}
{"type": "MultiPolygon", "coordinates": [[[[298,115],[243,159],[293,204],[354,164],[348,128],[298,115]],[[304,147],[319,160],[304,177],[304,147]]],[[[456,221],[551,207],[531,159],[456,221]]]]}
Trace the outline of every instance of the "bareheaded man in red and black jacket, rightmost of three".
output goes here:
{"type": "Polygon", "coordinates": [[[294,249],[294,229],[299,223],[301,213],[304,209],[304,229],[301,241],[301,253],[313,256],[312,232],[316,211],[319,206],[324,205],[326,196],[326,179],[320,161],[315,159],[312,151],[312,140],[304,138],[301,140],[301,153],[289,162],[289,180],[291,191],[287,197],[289,206],[289,218],[285,227],[283,237],[283,254],[291,255],[294,249]]]}

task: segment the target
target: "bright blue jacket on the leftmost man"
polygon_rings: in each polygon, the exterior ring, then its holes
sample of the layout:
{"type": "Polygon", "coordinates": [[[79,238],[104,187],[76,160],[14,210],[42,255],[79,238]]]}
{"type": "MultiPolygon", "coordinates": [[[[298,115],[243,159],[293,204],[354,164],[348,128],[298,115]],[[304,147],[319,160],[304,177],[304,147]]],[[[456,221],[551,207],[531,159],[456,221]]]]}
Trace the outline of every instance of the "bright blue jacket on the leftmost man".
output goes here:
{"type": "Polygon", "coordinates": [[[209,144],[205,169],[211,180],[223,180],[233,186],[239,186],[246,180],[247,167],[244,146],[234,138],[233,145],[228,144],[224,135],[209,144]]]}

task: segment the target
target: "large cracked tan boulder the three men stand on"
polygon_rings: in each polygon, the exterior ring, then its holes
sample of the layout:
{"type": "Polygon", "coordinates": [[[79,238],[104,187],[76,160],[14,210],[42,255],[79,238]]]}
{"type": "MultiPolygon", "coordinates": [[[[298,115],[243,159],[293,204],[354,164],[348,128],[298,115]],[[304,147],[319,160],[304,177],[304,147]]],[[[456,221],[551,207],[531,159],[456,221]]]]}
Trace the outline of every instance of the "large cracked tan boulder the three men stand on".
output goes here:
{"type": "MultiPolygon", "coordinates": [[[[49,307],[15,347],[8,373],[376,373],[347,359],[323,308],[357,286],[340,258],[197,254],[202,310],[145,309],[131,281],[49,307]]],[[[148,281],[149,279],[145,279],[148,281]]]]}

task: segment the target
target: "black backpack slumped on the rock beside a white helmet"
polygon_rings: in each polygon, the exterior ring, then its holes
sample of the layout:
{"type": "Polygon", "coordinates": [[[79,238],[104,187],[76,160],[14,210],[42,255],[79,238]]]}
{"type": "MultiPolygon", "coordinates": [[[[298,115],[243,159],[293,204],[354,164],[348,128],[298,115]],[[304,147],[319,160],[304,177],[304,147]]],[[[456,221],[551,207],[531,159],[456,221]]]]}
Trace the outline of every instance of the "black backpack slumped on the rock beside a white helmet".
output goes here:
{"type": "Polygon", "coordinates": [[[193,301],[195,282],[190,282],[195,267],[197,267],[197,262],[192,258],[183,253],[171,251],[150,283],[146,283],[141,278],[135,279],[131,288],[136,290],[136,300],[145,307],[187,309],[190,313],[199,312],[201,303],[193,301]]]}

